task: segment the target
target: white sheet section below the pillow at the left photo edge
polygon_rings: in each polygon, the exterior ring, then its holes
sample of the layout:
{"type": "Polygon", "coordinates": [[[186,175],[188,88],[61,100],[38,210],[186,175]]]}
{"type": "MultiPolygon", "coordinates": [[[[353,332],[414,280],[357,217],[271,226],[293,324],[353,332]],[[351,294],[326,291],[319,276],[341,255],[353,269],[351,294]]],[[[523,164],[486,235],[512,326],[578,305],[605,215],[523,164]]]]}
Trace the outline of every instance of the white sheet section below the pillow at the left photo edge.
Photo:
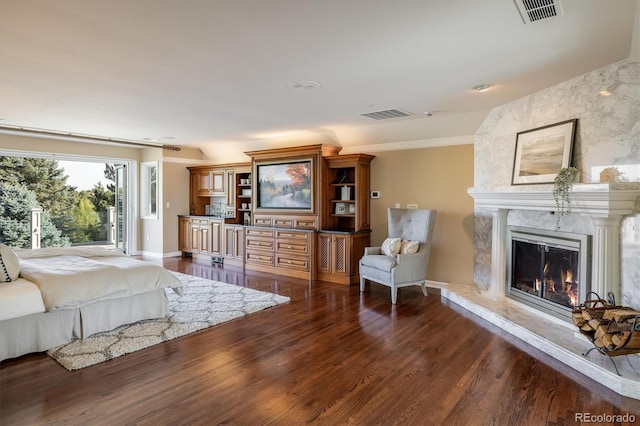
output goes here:
{"type": "Polygon", "coordinates": [[[24,278],[0,283],[0,321],[45,311],[40,289],[24,278]]]}

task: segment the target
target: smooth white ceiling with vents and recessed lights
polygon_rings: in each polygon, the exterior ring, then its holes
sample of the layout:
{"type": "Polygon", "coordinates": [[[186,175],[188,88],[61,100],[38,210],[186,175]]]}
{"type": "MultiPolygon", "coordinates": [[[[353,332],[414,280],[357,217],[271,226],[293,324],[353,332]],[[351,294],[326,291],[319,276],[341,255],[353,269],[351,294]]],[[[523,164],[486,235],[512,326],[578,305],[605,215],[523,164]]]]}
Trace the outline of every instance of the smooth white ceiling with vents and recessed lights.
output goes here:
{"type": "Polygon", "coordinates": [[[496,105],[629,57],[638,4],[562,0],[525,24],[513,0],[0,0],[0,124],[220,162],[455,142],[496,105]],[[320,87],[288,87],[302,80],[320,87]],[[415,115],[359,115],[390,108],[415,115]]]}

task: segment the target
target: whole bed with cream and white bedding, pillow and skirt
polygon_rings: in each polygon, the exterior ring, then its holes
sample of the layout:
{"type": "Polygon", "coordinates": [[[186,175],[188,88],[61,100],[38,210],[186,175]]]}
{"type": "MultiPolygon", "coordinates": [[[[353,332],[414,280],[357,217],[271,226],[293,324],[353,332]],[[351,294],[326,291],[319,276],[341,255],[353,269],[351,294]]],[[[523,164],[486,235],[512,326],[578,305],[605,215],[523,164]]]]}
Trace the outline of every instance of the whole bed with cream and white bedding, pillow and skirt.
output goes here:
{"type": "Polygon", "coordinates": [[[0,245],[0,361],[166,315],[166,269],[96,247],[0,245]]]}

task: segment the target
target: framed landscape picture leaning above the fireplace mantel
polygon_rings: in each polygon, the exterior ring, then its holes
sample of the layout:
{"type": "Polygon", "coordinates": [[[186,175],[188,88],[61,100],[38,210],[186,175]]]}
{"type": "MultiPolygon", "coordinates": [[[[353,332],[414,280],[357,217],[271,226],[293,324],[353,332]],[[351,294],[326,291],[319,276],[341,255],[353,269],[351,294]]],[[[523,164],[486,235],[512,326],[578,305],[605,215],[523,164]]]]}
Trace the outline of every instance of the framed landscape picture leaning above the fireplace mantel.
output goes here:
{"type": "Polygon", "coordinates": [[[571,165],[578,119],[518,132],[512,185],[553,183],[571,165]]]}

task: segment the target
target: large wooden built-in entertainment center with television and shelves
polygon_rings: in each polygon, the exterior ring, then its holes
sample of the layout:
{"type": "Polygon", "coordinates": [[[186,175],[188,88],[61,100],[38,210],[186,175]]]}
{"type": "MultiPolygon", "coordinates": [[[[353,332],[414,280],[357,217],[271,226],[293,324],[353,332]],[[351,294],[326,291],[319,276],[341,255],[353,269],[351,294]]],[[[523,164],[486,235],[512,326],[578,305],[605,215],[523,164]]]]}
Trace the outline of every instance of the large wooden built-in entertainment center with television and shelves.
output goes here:
{"type": "Polygon", "coordinates": [[[375,157],[338,155],[340,149],[319,144],[251,151],[246,152],[250,164],[189,167],[190,214],[179,218],[183,255],[357,283],[358,261],[370,245],[375,157]],[[216,201],[212,215],[211,204],[218,199],[223,201],[216,201]]]}

